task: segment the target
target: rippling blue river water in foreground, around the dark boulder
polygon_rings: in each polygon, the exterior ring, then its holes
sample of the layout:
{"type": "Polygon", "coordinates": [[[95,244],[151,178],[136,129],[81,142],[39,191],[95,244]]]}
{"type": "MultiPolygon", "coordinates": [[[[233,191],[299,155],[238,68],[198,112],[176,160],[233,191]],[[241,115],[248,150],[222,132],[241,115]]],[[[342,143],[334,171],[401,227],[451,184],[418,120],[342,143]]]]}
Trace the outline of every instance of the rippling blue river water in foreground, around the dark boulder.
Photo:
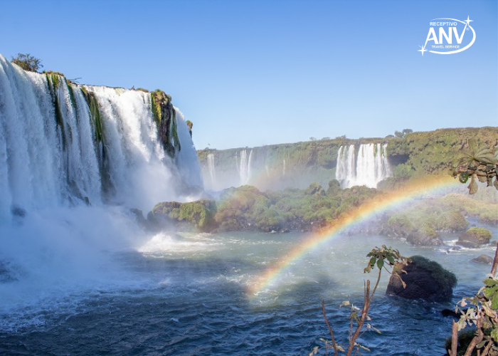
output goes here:
{"type": "MultiPolygon", "coordinates": [[[[496,238],[496,229],[494,238],[496,238]]],[[[137,251],[108,252],[101,274],[40,283],[28,277],[0,283],[0,353],[21,355],[307,355],[329,337],[321,303],[345,345],[351,300],[361,306],[365,255],[386,244],[420,254],[457,274],[448,303],[384,295],[373,305],[361,341],[368,355],[443,355],[450,318],[440,310],[480,288],[489,266],[470,260],[491,246],[447,253],[383,236],[339,236],[307,253],[276,284],[250,293],[254,277],[306,234],[158,234],[137,251]],[[26,280],[28,282],[26,282],[26,280]]],[[[444,236],[453,244],[456,235],[444,236]]],[[[321,351],[324,353],[323,350],[321,351]]]]}

